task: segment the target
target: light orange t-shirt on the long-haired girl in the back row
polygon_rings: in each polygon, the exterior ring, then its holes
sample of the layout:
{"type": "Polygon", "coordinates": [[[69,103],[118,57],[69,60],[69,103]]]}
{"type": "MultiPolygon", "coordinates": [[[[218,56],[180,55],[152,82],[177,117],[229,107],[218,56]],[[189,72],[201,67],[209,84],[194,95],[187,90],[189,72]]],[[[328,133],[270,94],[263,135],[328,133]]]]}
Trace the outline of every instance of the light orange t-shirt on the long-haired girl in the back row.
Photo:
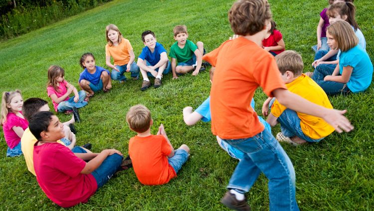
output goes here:
{"type": "Polygon", "coordinates": [[[133,50],[128,39],[122,37],[121,43],[117,46],[105,45],[105,56],[112,56],[114,59],[114,65],[125,65],[130,61],[129,50],[133,50]]]}

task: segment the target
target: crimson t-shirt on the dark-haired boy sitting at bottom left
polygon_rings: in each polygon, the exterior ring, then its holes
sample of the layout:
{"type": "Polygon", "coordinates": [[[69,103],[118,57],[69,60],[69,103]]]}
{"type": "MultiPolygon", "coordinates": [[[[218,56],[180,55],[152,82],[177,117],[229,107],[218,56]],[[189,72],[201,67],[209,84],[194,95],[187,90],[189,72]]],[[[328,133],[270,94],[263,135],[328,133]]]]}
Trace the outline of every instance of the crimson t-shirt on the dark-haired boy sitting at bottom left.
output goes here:
{"type": "Polygon", "coordinates": [[[57,142],[34,146],[33,160],[41,190],[63,208],[86,203],[97,190],[95,178],[80,173],[86,162],[57,142]]]}

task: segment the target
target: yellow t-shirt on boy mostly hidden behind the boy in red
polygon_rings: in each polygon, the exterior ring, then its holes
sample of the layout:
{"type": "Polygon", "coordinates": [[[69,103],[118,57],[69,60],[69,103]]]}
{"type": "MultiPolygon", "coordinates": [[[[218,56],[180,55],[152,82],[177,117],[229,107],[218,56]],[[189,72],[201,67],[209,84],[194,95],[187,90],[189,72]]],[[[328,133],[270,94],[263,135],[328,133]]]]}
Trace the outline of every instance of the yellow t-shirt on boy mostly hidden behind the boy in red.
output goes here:
{"type": "MultiPolygon", "coordinates": [[[[37,140],[35,136],[32,135],[29,128],[26,128],[21,138],[21,150],[24,156],[24,160],[26,161],[27,169],[34,176],[36,175],[35,175],[35,170],[34,170],[33,153],[34,153],[34,144],[36,142],[37,140]]],[[[64,143],[62,143],[60,140],[58,140],[57,143],[64,145],[64,143]]]]}

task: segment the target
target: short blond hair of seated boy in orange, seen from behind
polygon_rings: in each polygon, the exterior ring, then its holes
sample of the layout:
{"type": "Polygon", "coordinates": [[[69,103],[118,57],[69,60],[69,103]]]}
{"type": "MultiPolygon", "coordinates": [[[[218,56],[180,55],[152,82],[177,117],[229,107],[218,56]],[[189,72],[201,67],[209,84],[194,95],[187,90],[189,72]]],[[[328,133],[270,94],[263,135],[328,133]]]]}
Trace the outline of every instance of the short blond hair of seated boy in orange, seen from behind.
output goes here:
{"type": "Polygon", "coordinates": [[[151,126],[151,111],[142,104],[132,106],[126,115],[131,130],[137,133],[146,132],[151,126]]]}

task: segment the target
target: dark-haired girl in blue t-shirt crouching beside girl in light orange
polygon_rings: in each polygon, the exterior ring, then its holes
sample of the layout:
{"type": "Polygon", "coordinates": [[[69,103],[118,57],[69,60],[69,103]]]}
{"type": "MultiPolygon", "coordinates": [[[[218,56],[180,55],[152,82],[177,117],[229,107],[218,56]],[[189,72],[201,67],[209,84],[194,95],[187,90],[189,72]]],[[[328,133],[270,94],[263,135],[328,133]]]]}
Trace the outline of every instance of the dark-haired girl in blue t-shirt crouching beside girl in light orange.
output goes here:
{"type": "Polygon", "coordinates": [[[79,60],[80,66],[84,69],[79,75],[79,86],[88,92],[88,101],[95,92],[103,90],[108,92],[112,88],[110,83],[110,72],[107,69],[95,65],[95,57],[92,53],[85,53],[79,60]]]}

